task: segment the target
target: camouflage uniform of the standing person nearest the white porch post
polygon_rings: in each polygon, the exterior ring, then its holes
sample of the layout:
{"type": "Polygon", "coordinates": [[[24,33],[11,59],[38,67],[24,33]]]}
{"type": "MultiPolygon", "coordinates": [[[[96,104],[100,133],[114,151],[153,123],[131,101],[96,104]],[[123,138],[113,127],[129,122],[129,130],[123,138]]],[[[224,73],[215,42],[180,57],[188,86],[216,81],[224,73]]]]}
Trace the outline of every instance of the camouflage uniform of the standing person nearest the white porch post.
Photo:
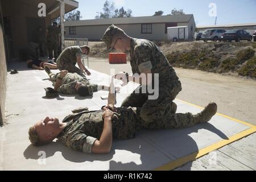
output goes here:
{"type": "Polygon", "coordinates": [[[54,26],[48,26],[48,36],[47,36],[47,48],[49,53],[49,58],[52,59],[52,51],[54,51],[54,57],[57,59],[58,55],[58,48],[59,48],[59,34],[60,28],[54,26]]]}

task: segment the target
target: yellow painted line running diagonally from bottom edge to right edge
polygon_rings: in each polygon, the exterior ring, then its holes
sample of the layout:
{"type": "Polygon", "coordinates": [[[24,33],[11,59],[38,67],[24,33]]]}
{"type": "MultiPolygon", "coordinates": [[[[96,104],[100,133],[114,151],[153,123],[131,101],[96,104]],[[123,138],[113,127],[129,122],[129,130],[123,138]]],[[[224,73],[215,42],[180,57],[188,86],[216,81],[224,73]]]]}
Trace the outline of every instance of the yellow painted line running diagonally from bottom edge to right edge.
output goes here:
{"type": "Polygon", "coordinates": [[[242,131],[241,133],[238,133],[238,134],[230,137],[228,140],[221,140],[220,142],[217,142],[208,147],[202,148],[201,150],[194,152],[190,155],[184,156],[183,158],[179,158],[177,160],[174,160],[171,163],[165,164],[164,166],[155,168],[155,171],[170,171],[172,169],[180,167],[181,165],[183,165],[185,163],[188,163],[195,159],[201,158],[201,156],[204,156],[211,151],[217,150],[218,148],[226,146],[227,144],[236,142],[237,140],[239,140],[241,138],[247,137],[248,135],[253,134],[255,132],[256,132],[256,128],[251,127],[248,130],[242,131]]]}

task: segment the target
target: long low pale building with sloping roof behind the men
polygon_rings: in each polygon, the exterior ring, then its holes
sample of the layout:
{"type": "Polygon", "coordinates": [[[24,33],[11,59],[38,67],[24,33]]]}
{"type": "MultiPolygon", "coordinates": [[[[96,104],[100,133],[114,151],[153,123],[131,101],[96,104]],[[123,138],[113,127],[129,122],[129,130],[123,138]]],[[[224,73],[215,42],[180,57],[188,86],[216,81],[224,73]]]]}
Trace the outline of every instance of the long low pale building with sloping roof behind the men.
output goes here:
{"type": "Polygon", "coordinates": [[[148,40],[167,40],[167,27],[177,26],[188,26],[188,40],[192,40],[196,27],[192,14],[78,20],[64,23],[65,37],[98,41],[111,24],[122,28],[129,36],[148,40]]]}

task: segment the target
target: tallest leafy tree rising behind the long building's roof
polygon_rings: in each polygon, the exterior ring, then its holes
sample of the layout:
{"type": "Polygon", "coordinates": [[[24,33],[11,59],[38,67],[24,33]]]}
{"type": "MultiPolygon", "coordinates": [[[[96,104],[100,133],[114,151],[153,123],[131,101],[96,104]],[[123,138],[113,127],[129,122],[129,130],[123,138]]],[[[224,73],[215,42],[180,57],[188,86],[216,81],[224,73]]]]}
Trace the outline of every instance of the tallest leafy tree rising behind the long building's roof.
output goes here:
{"type": "Polygon", "coordinates": [[[132,16],[132,11],[127,9],[127,11],[121,7],[121,9],[115,9],[114,3],[110,1],[106,1],[103,7],[103,13],[100,12],[100,16],[95,16],[98,18],[127,18],[132,16]]]}

